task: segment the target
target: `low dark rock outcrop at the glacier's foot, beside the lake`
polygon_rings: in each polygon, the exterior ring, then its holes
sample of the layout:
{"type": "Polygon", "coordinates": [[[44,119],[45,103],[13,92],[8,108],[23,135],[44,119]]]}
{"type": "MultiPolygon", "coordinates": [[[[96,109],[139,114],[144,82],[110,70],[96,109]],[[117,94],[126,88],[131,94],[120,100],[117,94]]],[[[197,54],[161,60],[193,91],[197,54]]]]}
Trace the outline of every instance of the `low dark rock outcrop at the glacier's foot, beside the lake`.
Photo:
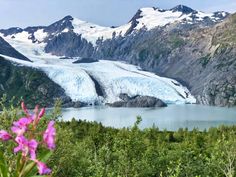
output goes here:
{"type": "Polygon", "coordinates": [[[150,96],[140,96],[129,97],[127,94],[120,94],[120,99],[123,101],[117,101],[114,103],[109,103],[107,105],[111,107],[166,107],[167,104],[162,100],[150,97],[150,96]]]}

